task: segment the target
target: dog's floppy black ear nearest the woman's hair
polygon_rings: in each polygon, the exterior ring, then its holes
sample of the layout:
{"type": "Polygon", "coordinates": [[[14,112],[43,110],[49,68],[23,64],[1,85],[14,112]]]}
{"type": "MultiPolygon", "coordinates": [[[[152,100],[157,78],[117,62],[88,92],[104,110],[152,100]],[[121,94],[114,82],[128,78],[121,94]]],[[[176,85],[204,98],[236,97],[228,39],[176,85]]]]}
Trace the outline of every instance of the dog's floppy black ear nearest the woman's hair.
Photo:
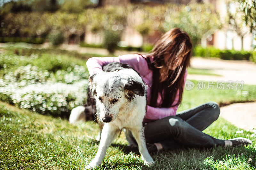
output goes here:
{"type": "Polygon", "coordinates": [[[145,86],[135,80],[128,80],[127,83],[124,84],[124,92],[125,92],[125,97],[131,101],[134,97],[134,94],[139,95],[139,96],[144,96],[145,95],[145,86]]]}

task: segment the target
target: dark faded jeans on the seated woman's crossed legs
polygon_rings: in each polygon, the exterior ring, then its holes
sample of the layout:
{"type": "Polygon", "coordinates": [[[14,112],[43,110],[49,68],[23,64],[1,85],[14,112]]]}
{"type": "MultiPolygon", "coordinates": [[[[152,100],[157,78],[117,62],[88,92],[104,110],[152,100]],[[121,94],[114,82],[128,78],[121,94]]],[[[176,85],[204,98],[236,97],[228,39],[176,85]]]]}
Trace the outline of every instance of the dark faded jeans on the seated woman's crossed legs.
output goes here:
{"type": "Polygon", "coordinates": [[[180,146],[212,147],[224,146],[224,140],[203,133],[220,115],[215,102],[204,103],[192,109],[184,110],[176,116],[168,116],[145,125],[147,143],[160,143],[164,150],[180,146]]]}

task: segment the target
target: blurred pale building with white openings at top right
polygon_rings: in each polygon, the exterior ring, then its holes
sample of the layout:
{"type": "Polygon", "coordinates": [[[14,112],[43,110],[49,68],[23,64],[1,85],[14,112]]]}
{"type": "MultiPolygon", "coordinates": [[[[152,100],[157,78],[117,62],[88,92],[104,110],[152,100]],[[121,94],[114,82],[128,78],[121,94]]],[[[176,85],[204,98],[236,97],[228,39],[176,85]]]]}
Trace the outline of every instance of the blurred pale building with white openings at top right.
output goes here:
{"type": "MultiPolygon", "coordinates": [[[[229,14],[235,15],[236,9],[239,7],[238,4],[226,0],[204,0],[204,2],[210,2],[214,5],[216,11],[220,14],[223,27],[212,36],[202,39],[202,46],[212,45],[219,49],[241,50],[243,44],[244,50],[252,50],[252,44],[255,44],[255,42],[250,29],[243,25],[240,26],[240,29],[238,28],[239,30],[234,31],[234,28],[227,23],[229,14]]],[[[237,17],[239,17],[239,13],[237,17]]]]}

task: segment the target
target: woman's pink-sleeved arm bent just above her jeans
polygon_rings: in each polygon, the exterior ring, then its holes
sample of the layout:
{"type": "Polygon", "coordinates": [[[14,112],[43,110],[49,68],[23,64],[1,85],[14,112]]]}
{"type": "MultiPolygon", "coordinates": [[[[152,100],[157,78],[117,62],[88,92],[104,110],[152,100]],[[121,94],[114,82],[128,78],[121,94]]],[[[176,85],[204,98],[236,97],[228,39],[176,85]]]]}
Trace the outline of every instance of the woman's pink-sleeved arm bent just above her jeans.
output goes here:
{"type": "MultiPolygon", "coordinates": [[[[185,82],[187,79],[187,70],[185,72],[184,75],[184,84],[183,84],[183,90],[185,87],[185,82]]],[[[179,100],[179,91],[177,92],[177,95],[175,97],[175,100],[173,102],[173,105],[177,104],[179,100]]],[[[145,116],[144,121],[145,122],[150,122],[150,120],[158,120],[167,116],[175,116],[176,115],[176,111],[178,109],[178,105],[170,107],[170,108],[156,108],[156,107],[152,107],[152,106],[148,106],[147,105],[147,113],[145,116]]]]}

